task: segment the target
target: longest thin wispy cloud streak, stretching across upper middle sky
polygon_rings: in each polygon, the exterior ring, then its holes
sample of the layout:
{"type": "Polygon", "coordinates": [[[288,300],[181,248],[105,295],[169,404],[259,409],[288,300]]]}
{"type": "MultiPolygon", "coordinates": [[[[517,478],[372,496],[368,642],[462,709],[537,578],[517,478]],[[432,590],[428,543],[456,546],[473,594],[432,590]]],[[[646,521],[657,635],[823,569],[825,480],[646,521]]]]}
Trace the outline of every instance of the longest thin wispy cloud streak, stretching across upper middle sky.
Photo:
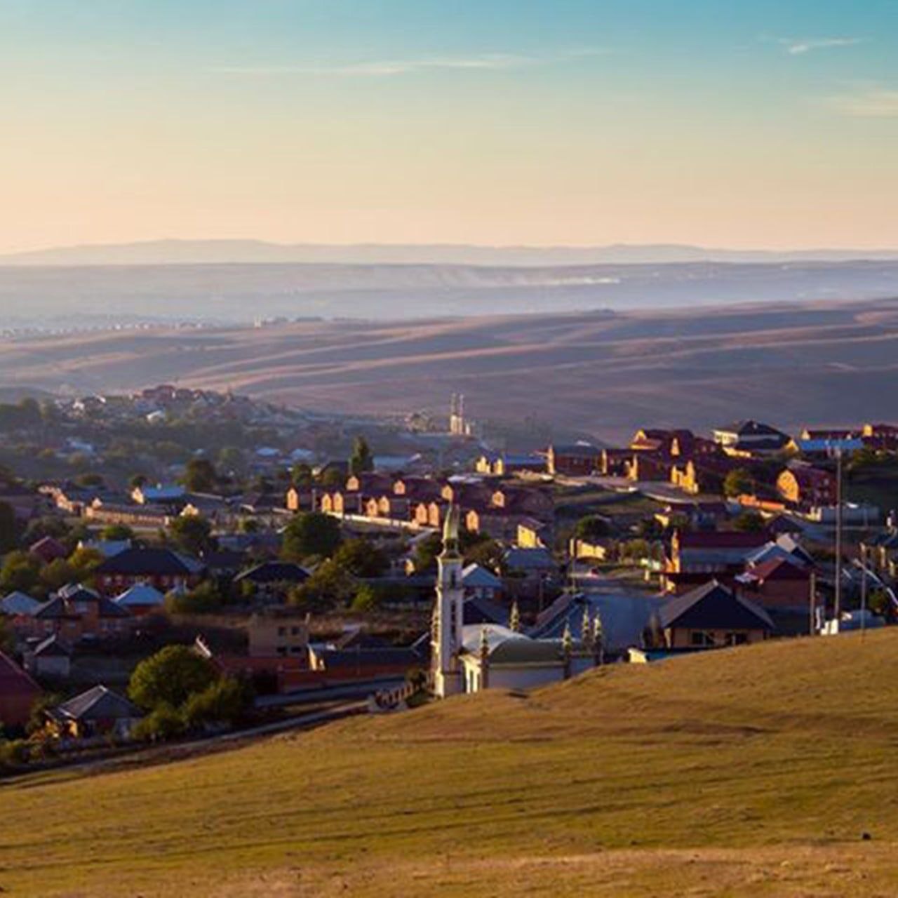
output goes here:
{"type": "Polygon", "coordinates": [[[408,75],[427,69],[501,71],[524,66],[546,65],[583,57],[601,56],[605,48],[574,48],[552,56],[526,56],[517,53],[481,53],[467,57],[421,57],[416,59],[378,59],[348,63],[303,63],[297,65],[216,66],[221,75],[335,75],[345,77],[389,77],[408,75]]]}

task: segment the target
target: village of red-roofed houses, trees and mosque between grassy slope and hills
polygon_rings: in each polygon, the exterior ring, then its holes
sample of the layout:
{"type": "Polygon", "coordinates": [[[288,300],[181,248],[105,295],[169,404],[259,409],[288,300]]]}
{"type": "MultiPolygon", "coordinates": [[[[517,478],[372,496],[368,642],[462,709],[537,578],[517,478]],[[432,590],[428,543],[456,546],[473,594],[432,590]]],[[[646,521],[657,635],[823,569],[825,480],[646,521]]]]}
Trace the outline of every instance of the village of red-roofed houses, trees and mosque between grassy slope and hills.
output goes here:
{"type": "Polygon", "coordinates": [[[68,475],[0,488],[6,771],[898,619],[898,426],[515,453],[460,396],[404,434],[171,386],[0,410],[68,475]]]}

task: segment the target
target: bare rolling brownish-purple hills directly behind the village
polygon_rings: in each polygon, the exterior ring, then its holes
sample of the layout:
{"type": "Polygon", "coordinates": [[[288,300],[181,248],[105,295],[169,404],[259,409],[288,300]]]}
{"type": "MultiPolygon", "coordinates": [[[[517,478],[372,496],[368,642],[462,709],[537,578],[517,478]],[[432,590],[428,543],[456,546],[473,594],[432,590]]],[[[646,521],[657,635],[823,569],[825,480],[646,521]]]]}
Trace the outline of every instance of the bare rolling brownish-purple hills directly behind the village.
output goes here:
{"type": "Polygon", "coordinates": [[[76,392],[177,380],[310,409],[445,409],[622,439],[639,426],[898,418],[898,300],[629,314],[309,321],[0,343],[0,384],[76,392]]]}

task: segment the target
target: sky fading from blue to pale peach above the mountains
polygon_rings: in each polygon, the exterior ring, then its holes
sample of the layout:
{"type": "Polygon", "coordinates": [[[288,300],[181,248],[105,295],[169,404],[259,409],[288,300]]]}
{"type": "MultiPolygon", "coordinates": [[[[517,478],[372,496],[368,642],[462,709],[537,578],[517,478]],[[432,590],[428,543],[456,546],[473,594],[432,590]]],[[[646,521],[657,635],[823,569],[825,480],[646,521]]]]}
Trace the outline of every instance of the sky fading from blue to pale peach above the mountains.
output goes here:
{"type": "Polygon", "coordinates": [[[0,0],[0,252],[898,247],[898,0],[0,0]]]}

